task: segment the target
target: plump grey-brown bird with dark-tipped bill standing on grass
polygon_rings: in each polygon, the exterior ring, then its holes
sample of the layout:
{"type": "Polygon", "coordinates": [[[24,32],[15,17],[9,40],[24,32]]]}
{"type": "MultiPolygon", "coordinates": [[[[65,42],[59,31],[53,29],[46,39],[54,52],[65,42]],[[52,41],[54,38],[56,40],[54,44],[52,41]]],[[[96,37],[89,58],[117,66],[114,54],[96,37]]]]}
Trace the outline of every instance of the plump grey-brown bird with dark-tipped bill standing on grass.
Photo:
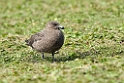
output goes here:
{"type": "Polygon", "coordinates": [[[51,53],[52,61],[54,61],[55,52],[64,44],[65,38],[61,29],[64,29],[64,26],[56,21],[50,21],[43,30],[25,40],[26,45],[40,52],[43,59],[44,53],[51,53]]]}

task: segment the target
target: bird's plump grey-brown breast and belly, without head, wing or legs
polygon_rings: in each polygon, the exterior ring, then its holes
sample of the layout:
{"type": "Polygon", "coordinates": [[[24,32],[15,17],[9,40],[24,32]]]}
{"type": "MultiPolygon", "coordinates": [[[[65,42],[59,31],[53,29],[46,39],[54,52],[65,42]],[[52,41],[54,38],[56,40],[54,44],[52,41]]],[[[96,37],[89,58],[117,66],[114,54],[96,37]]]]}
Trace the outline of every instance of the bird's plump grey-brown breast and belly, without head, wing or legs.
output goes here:
{"type": "MultiPolygon", "coordinates": [[[[59,50],[64,43],[64,35],[61,30],[44,30],[39,40],[34,40],[32,46],[39,52],[52,53],[59,50]]],[[[40,34],[41,34],[40,33],[40,34]]]]}

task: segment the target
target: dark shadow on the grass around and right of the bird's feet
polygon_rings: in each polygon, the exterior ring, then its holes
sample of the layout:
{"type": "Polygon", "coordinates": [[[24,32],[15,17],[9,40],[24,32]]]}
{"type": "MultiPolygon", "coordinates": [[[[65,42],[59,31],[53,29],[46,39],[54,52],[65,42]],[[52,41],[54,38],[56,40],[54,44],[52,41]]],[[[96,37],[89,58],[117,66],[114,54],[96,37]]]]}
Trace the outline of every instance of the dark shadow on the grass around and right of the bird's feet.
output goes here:
{"type": "MultiPolygon", "coordinates": [[[[73,53],[71,53],[71,55],[66,55],[66,54],[55,54],[55,58],[54,58],[54,62],[66,62],[66,61],[72,61],[75,60],[77,58],[79,59],[83,59],[86,56],[90,56],[93,54],[97,54],[96,50],[89,50],[86,52],[78,52],[75,51],[73,53]]],[[[42,62],[42,61],[49,61],[49,62],[53,62],[52,61],[52,55],[50,54],[45,54],[44,59],[42,59],[42,56],[40,53],[37,52],[30,52],[28,56],[26,56],[23,61],[27,61],[27,62],[33,62],[33,63],[37,63],[37,62],[42,62]]]]}

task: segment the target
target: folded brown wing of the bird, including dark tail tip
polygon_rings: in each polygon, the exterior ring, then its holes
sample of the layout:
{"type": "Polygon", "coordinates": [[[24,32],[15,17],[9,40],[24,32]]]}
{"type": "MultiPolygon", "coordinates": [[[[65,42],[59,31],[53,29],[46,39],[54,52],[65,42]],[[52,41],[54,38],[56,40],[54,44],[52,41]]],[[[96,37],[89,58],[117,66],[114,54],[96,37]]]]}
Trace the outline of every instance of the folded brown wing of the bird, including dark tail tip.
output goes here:
{"type": "Polygon", "coordinates": [[[43,37],[44,37],[43,31],[36,33],[32,35],[30,39],[25,40],[26,45],[31,46],[33,48],[32,44],[38,40],[42,40],[43,37]]]}

